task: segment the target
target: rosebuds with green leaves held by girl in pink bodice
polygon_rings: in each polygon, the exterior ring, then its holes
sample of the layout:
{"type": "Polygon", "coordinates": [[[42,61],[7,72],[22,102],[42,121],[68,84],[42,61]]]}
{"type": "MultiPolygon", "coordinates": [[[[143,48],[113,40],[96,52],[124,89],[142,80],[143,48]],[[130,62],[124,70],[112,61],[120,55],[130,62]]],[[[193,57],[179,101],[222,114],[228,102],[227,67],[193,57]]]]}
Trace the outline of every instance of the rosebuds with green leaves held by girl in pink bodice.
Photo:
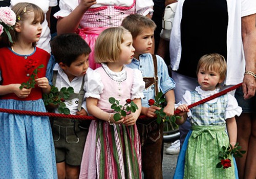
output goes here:
{"type": "Polygon", "coordinates": [[[119,101],[113,97],[109,98],[109,102],[112,104],[111,108],[117,112],[113,116],[115,121],[118,121],[121,117],[125,117],[130,112],[135,113],[138,109],[138,106],[131,99],[126,99],[126,103],[123,106],[120,105],[119,101]]]}

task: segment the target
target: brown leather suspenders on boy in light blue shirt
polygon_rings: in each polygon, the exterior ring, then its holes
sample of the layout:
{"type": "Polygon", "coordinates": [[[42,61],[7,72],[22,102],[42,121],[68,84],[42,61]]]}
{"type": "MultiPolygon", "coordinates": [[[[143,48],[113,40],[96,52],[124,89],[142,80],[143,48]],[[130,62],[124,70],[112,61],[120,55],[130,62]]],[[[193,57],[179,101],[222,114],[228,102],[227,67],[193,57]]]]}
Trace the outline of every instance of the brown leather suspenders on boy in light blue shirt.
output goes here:
{"type": "Polygon", "coordinates": [[[155,84],[155,96],[158,95],[158,76],[157,76],[157,58],[155,54],[151,54],[154,62],[154,77],[143,77],[145,89],[155,84]]]}

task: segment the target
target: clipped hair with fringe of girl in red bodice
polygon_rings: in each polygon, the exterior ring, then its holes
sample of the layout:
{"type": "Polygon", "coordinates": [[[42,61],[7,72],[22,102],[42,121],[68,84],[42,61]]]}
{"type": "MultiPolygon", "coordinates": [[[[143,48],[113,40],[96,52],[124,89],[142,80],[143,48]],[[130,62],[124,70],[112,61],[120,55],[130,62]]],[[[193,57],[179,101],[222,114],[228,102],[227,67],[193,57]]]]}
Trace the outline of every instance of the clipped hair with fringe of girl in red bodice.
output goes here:
{"type": "MultiPolygon", "coordinates": [[[[32,3],[17,3],[12,7],[12,10],[16,14],[16,23],[20,23],[28,18],[28,12],[34,12],[34,22],[36,22],[38,19],[40,20],[40,23],[42,23],[45,20],[45,13],[41,10],[38,6],[32,4],[32,3]]],[[[15,31],[15,28],[11,31],[11,36],[13,43],[18,40],[18,32],[15,31]]],[[[33,46],[36,45],[36,42],[33,42],[33,46]]]]}

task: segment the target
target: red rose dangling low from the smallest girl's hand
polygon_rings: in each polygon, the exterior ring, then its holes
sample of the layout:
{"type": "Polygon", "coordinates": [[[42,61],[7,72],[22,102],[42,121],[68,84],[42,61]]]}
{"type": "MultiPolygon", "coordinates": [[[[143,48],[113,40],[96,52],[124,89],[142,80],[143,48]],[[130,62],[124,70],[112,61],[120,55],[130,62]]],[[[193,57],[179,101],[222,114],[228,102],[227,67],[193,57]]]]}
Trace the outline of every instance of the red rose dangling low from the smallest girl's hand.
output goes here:
{"type": "Polygon", "coordinates": [[[231,144],[226,148],[225,146],[222,146],[222,151],[219,152],[219,160],[220,162],[216,165],[217,168],[229,168],[231,167],[231,160],[230,157],[233,155],[234,158],[241,158],[246,151],[240,150],[242,147],[239,145],[239,143],[236,143],[234,147],[231,146],[231,144]]]}

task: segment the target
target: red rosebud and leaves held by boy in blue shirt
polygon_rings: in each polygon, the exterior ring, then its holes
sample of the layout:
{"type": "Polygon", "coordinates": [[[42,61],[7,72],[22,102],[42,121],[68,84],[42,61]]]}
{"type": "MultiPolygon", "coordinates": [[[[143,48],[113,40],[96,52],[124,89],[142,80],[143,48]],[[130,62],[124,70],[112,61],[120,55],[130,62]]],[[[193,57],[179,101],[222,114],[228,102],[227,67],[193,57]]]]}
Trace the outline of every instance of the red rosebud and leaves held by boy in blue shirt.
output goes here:
{"type": "Polygon", "coordinates": [[[155,100],[154,99],[148,100],[148,105],[150,105],[150,106],[154,105],[157,107],[161,107],[160,110],[155,111],[158,124],[160,124],[161,121],[168,122],[172,126],[172,128],[177,128],[178,125],[175,123],[175,121],[176,121],[176,119],[180,119],[180,116],[175,116],[175,115],[167,116],[164,113],[163,109],[164,109],[166,100],[162,96],[163,96],[163,93],[159,92],[158,95],[156,96],[155,100]]]}

